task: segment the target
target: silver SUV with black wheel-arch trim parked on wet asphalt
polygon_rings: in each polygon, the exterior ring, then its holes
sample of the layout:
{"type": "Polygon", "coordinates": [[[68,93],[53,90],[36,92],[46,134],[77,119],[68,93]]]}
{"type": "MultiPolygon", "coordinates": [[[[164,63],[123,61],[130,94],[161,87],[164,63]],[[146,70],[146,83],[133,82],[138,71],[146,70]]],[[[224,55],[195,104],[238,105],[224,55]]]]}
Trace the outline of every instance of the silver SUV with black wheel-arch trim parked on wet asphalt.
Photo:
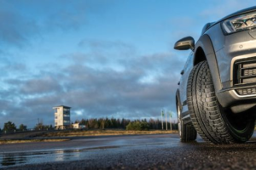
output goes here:
{"type": "Polygon", "coordinates": [[[175,49],[191,49],[176,93],[182,141],[213,144],[251,138],[256,117],[256,6],[203,27],[195,43],[184,37],[175,49]]]}

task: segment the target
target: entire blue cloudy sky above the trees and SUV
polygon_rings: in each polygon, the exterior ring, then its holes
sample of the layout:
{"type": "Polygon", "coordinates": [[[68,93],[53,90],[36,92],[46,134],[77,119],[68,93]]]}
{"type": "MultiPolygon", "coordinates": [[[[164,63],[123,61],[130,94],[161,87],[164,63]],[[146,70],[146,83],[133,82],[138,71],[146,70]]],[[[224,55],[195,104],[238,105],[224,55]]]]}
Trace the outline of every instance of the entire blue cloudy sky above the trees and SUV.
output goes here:
{"type": "Polygon", "coordinates": [[[253,0],[0,0],[0,128],[54,125],[57,105],[81,118],[160,118],[207,22],[253,0]]]}

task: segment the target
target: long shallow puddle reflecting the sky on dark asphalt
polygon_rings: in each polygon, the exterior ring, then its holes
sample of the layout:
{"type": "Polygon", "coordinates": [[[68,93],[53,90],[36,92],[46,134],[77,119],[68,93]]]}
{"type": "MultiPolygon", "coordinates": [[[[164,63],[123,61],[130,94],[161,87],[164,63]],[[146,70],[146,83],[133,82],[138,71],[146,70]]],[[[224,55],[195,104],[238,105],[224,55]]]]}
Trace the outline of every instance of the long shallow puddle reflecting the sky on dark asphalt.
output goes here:
{"type": "Polygon", "coordinates": [[[16,167],[28,164],[37,164],[45,162],[56,161],[80,161],[90,159],[93,154],[99,154],[100,151],[119,149],[119,150],[131,150],[131,147],[137,147],[139,149],[148,150],[148,146],[160,146],[165,143],[138,143],[137,142],[116,142],[113,145],[102,145],[90,148],[78,148],[78,149],[57,149],[57,150],[37,150],[26,152],[11,152],[0,153],[0,168],[1,167],[16,167]]]}

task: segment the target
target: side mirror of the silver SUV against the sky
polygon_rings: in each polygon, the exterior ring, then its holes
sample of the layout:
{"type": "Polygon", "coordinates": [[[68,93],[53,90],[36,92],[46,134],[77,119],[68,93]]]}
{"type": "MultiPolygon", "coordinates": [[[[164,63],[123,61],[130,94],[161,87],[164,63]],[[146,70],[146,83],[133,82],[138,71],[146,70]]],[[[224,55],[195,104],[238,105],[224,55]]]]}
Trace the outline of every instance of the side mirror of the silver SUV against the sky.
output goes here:
{"type": "Polygon", "coordinates": [[[195,40],[193,37],[183,37],[183,39],[178,40],[174,45],[174,49],[178,50],[191,49],[192,51],[194,51],[194,48],[195,40]]]}

